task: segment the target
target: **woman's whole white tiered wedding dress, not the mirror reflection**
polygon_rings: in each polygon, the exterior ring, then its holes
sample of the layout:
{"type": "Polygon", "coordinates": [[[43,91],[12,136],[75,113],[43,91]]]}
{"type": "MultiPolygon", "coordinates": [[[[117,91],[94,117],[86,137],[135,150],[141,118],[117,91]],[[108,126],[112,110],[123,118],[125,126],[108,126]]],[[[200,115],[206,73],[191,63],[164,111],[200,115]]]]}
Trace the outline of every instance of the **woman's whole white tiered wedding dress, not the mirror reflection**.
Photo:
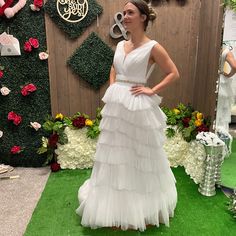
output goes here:
{"type": "Polygon", "coordinates": [[[134,96],[132,85],[145,84],[153,46],[148,41],[125,55],[124,41],[114,55],[116,82],[103,101],[101,133],[91,178],[80,187],[77,214],[83,226],[144,231],[169,226],[177,202],[175,178],[163,150],[166,117],[157,95],[134,96]]]}

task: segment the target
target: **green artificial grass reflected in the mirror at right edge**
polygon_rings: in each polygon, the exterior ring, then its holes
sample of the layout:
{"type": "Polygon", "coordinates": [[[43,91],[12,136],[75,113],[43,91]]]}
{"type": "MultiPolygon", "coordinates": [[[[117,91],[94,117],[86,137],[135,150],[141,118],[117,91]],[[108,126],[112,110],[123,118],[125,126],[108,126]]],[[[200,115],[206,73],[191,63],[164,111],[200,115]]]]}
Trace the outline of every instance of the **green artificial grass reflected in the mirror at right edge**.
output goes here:
{"type": "Polygon", "coordinates": [[[236,188],[236,139],[232,143],[231,155],[222,164],[221,181],[224,186],[236,188]]]}

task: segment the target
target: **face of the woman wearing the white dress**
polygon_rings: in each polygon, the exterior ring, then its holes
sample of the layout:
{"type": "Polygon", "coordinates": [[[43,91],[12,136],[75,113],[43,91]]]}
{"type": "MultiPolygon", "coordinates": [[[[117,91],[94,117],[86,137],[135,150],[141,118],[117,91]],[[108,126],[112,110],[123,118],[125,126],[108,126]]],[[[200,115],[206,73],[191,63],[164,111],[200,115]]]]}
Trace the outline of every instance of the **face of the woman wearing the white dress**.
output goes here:
{"type": "Polygon", "coordinates": [[[124,6],[124,27],[127,31],[133,31],[136,28],[144,29],[144,20],[146,19],[145,15],[141,15],[139,9],[132,3],[127,3],[124,6]]]}

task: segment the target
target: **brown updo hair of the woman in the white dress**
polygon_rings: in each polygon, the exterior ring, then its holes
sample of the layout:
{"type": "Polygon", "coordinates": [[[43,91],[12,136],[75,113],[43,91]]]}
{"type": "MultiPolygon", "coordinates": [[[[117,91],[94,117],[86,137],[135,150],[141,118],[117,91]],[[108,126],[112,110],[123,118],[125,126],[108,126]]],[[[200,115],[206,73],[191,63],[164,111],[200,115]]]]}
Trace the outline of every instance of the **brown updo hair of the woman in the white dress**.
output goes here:
{"type": "Polygon", "coordinates": [[[144,31],[146,31],[148,22],[149,21],[154,21],[156,19],[156,12],[153,10],[151,6],[148,5],[148,0],[129,0],[126,2],[127,3],[132,3],[134,6],[136,6],[140,13],[142,15],[145,15],[147,18],[144,21],[144,31]]]}

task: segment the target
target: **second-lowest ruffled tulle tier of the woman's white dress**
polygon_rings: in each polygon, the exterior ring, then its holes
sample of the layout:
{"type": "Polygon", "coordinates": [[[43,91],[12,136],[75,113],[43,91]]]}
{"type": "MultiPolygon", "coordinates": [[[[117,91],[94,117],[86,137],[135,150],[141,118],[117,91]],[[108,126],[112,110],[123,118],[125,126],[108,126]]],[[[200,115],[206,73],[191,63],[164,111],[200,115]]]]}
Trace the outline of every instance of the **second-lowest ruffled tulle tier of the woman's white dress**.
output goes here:
{"type": "MultiPolygon", "coordinates": [[[[154,161],[151,161],[154,165],[154,161]]],[[[166,164],[166,163],[165,163],[166,164]]],[[[141,194],[148,194],[155,191],[162,191],[165,183],[167,186],[174,186],[175,178],[165,164],[156,165],[156,169],[144,171],[142,168],[136,169],[134,163],[128,164],[107,164],[96,162],[96,171],[91,176],[91,185],[107,186],[114,190],[131,191],[141,194]],[[160,168],[162,167],[162,168],[160,168]],[[165,168],[165,169],[164,169],[165,168]],[[164,170],[162,170],[164,169],[164,170]],[[119,178],[117,178],[119,176],[119,178]]]]}

